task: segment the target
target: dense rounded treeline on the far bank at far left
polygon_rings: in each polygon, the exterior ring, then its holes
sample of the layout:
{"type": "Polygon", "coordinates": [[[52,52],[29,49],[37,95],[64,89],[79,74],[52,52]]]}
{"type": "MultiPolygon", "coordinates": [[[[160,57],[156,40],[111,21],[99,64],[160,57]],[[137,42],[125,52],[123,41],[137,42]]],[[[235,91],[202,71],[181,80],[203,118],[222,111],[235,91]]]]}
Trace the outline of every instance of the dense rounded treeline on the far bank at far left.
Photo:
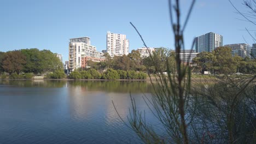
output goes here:
{"type": "Polygon", "coordinates": [[[53,52],[49,50],[21,49],[0,52],[0,75],[9,73],[42,74],[63,68],[63,64],[53,52]]]}

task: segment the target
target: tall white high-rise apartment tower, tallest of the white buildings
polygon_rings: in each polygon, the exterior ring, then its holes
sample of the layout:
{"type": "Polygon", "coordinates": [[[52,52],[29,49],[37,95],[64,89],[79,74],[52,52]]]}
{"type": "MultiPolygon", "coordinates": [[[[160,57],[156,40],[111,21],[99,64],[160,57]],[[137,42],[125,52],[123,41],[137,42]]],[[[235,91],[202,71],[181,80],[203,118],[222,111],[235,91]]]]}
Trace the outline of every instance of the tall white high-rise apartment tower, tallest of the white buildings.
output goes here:
{"type": "Polygon", "coordinates": [[[129,40],[125,34],[107,32],[107,52],[110,57],[129,54],[129,40]]]}

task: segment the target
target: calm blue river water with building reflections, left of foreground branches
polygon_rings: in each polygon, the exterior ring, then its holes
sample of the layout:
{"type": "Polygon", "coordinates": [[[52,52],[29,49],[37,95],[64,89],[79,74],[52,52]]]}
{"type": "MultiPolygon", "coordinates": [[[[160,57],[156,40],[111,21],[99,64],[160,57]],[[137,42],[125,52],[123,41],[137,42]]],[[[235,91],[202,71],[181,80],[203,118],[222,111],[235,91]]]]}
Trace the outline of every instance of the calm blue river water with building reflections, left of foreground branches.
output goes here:
{"type": "Polygon", "coordinates": [[[0,143],[141,143],[112,100],[127,121],[131,92],[157,125],[142,99],[150,89],[146,81],[0,80],[0,143]]]}

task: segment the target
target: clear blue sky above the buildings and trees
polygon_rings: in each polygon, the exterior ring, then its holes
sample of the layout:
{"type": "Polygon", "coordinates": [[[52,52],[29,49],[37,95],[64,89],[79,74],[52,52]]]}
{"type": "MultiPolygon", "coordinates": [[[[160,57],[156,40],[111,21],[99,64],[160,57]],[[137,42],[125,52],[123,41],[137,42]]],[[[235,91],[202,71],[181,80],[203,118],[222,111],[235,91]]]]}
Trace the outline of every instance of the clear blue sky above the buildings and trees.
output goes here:
{"type": "MultiPolygon", "coordinates": [[[[231,0],[246,11],[241,0],[231,0]]],[[[47,49],[68,59],[69,38],[90,37],[98,51],[106,49],[107,31],[126,34],[130,51],[143,43],[129,22],[142,34],[149,47],[173,49],[167,0],[0,0],[0,51],[47,49]]],[[[182,0],[182,17],[191,0],[182,0]]],[[[190,49],[194,37],[214,32],[223,35],[224,44],[253,40],[245,30],[254,29],[238,20],[228,0],[198,0],[184,33],[185,47],[190,49]]]]}

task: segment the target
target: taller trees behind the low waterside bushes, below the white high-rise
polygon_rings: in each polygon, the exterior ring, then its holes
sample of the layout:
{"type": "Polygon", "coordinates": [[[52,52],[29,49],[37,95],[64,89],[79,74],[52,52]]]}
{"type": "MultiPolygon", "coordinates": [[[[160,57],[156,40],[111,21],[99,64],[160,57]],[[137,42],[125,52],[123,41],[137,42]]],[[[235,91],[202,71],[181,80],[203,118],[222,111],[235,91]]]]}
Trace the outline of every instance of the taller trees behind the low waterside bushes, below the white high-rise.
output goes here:
{"type": "Polygon", "coordinates": [[[86,64],[93,69],[98,71],[103,71],[104,69],[114,69],[114,70],[135,70],[135,71],[147,71],[148,74],[153,74],[156,72],[154,65],[159,66],[158,71],[166,70],[166,61],[173,66],[174,64],[174,52],[160,47],[155,49],[151,53],[152,58],[141,58],[141,54],[138,50],[132,50],[129,55],[123,56],[114,56],[113,58],[109,56],[108,53],[105,53],[106,57],[105,62],[93,62],[88,61],[86,64]],[[153,59],[153,61],[152,61],[153,59]]]}

